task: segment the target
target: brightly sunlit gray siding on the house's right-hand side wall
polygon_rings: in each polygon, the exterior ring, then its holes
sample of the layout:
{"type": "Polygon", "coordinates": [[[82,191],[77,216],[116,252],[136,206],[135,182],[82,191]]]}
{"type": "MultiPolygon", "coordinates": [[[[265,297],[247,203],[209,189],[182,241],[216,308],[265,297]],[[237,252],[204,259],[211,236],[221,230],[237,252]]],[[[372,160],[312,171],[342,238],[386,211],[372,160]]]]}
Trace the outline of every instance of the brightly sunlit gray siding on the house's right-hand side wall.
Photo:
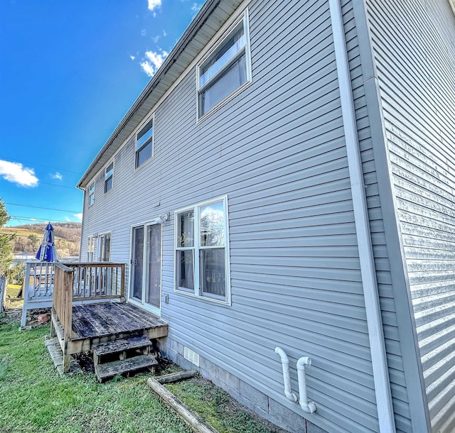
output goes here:
{"type": "Polygon", "coordinates": [[[368,2],[395,204],[434,432],[455,429],[455,17],[368,2]]]}

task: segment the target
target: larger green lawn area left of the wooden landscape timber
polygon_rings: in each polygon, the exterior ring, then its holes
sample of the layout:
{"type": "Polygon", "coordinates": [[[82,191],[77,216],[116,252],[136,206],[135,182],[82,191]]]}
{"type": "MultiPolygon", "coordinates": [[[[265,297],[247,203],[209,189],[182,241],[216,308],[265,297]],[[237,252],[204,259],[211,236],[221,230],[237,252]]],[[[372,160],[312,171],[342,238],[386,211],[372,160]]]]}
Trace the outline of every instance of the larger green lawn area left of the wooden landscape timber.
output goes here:
{"type": "Polygon", "coordinates": [[[60,378],[45,334],[47,326],[0,324],[0,432],[191,433],[151,392],[149,375],[105,384],[89,374],[60,378]]]}

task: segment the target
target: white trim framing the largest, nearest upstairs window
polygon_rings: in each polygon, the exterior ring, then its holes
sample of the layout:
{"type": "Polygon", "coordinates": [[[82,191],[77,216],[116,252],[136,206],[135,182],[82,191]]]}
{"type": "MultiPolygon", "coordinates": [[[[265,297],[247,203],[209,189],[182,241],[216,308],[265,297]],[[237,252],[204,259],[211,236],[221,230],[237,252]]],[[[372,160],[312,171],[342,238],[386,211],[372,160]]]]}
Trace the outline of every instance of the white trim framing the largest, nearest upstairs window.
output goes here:
{"type": "MultiPolygon", "coordinates": [[[[251,66],[251,44],[250,44],[250,18],[248,15],[248,9],[245,9],[240,16],[237,16],[235,21],[229,26],[229,28],[223,33],[221,36],[215,36],[214,40],[216,40],[215,43],[210,45],[210,48],[208,48],[207,52],[203,55],[203,57],[198,61],[196,65],[196,123],[203,121],[206,119],[210,114],[213,114],[213,112],[218,111],[223,105],[228,103],[230,99],[234,98],[237,94],[242,92],[245,87],[248,87],[252,83],[252,66],[251,66]],[[203,65],[205,60],[210,57],[210,55],[220,46],[222,45],[225,40],[228,38],[230,33],[237,27],[237,25],[243,21],[243,26],[245,29],[245,62],[246,62],[246,67],[247,67],[247,81],[242,84],[240,87],[237,87],[237,89],[234,90],[231,94],[229,94],[227,97],[224,99],[221,99],[220,102],[215,104],[211,109],[209,109],[206,113],[204,113],[202,116],[199,115],[199,92],[200,92],[200,67],[203,65]]],[[[225,70],[226,66],[223,66],[219,72],[225,70]]],[[[217,75],[218,75],[217,73],[217,75]]],[[[210,80],[209,80],[210,82],[210,80]]],[[[203,85],[205,87],[207,82],[203,85]]]]}

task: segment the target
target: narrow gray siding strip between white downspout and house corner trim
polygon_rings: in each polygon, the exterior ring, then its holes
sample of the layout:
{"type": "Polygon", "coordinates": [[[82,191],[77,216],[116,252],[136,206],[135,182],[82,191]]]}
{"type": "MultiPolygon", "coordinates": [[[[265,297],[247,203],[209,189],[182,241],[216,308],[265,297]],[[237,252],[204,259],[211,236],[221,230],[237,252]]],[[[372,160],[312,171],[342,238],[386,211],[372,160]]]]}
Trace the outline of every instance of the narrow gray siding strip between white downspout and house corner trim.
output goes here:
{"type": "MultiPolygon", "coordinates": [[[[370,231],[375,257],[375,268],[380,295],[380,306],[385,336],[387,364],[389,366],[390,388],[392,404],[395,412],[395,427],[397,432],[411,432],[411,415],[409,407],[409,393],[405,380],[405,367],[402,360],[402,348],[397,327],[397,312],[390,276],[390,263],[387,253],[382,208],[378,190],[378,175],[373,154],[371,139],[370,118],[368,116],[367,101],[365,98],[364,82],[368,80],[363,72],[362,57],[358,46],[358,26],[355,22],[353,4],[343,1],[343,22],[346,33],[346,46],[350,66],[350,76],[353,88],[355,117],[358,128],[361,160],[365,191],[367,195],[368,214],[370,217],[370,231]]],[[[361,34],[362,38],[366,35],[361,34]]]]}

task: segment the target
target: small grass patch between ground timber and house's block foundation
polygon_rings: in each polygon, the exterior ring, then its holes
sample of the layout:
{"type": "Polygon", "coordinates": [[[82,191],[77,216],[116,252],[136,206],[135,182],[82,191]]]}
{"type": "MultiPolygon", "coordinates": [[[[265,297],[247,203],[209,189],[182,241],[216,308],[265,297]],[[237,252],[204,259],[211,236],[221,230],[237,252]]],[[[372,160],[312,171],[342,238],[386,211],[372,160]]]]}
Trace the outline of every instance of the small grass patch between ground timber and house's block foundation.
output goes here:
{"type": "Polygon", "coordinates": [[[228,393],[196,376],[166,388],[220,433],[274,433],[279,430],[245,411],[228,393]]]}

